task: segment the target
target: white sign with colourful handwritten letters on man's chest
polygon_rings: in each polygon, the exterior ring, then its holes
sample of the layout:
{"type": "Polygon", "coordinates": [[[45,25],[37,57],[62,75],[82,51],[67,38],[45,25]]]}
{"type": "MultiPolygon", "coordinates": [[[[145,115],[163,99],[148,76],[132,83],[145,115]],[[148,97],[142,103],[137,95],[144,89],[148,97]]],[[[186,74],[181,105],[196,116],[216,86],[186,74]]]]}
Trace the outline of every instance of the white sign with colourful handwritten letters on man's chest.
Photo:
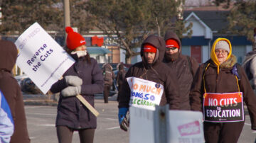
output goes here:
{"type": "Polygon", "coordinates": [[[127,78],[131,89],[129,105],[149,110],[155,110],[155,105],[159,105],[161,96],[164,93],[164,86],[136,77],[127,78]]]}

